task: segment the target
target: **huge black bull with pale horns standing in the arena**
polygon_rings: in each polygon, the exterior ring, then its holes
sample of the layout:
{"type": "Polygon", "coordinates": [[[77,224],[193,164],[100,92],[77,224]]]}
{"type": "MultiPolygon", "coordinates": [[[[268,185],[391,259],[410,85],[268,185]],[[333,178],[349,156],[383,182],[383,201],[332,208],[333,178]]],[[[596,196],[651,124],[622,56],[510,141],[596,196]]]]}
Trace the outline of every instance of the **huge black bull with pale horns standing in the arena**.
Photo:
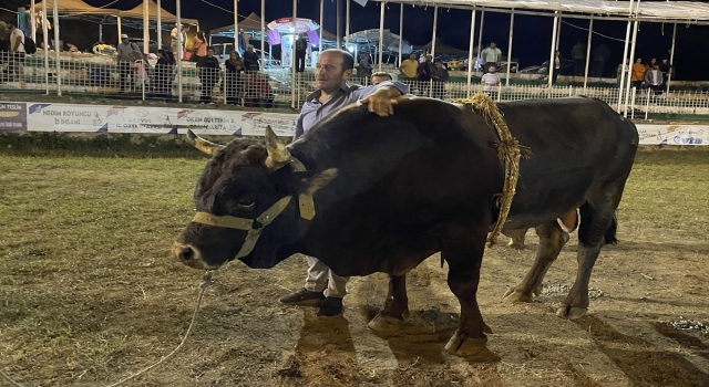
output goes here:
{"type": "MultiPolygon", "coordinates": [[[[532,300],[565,242],[556,219],[579,209],[578,271],[557,312],[578,318],[588,307],[588,281],[604,236],[615,233],[637,130],[605,103],[586,97],[499,106],[512,135],[533,153],[521,161],[505,229],[536,227],[541,238],[532,269],[506,299],[532,300]]],[[[370,323],[389,330],[408,310],[407,272],[440,251],[461,304],[459,328],[445,348],[461,356],[486,352],[490,328],[476,291],[485,239],[497,216],[493,198],[503,187],[495,129],[462,105],[411,98],[398,102],[389,117],[363,106],[342,109],[288,148],[267,132],[266,145],[238,139],[224,147],[196,138],[214,155],[195,190],[197,211],[257,219],[279,199],[294,197],[273,223],[250,226],[260,237],[239,259],[268,269],[300,252],[339,275],[389,273],[384,308],[370,323]],[[307,170],[296,170],[290,155],[307,170]],[[314,195],[312,220],[299,215],[299,194],[314,195]]],[[[193,221],[173,251],[187,265],[215,269],[240,255],[245,236],[193,221]]]]}

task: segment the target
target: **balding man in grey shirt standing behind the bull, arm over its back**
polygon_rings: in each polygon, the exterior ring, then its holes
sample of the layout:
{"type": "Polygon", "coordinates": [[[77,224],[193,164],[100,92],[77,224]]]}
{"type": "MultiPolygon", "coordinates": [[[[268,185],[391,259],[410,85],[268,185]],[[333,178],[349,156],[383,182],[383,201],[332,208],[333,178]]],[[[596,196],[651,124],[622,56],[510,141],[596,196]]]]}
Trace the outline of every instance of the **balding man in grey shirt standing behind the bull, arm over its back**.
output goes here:
{"type": "MultiPolygon", "coordinates": [[[[368,104],[369,111],[380,116],[393,114],[392,98],[405,94],[408,86],[384,81],[372,86],[349,86],[354,59],[343,50],[326,50],[318,56],[315,79],[318,91],[308,95],[300,109],[294,140],[308,133],[320,121],[354,102],[368,104]]],[[[339,276],[315,257],[307,257],[306,285],[280,297],[286,305],[319,306],[319,316],[342,313],[342,297],[347,293],[349,276],[339,276]]]]}

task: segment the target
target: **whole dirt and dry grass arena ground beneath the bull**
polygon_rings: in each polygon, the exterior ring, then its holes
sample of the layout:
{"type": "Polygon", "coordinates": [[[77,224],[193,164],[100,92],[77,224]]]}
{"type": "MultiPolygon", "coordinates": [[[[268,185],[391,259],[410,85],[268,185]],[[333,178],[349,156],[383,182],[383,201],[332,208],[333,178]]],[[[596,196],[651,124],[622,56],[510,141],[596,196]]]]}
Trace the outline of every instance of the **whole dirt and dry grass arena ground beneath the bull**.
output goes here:
{"type": "MultiPolygon", "coordinates": [[[[709,386],[709,154],[677,157],[639,157],[620,243],[602,251],[578,321],[555,315],[575,278],[575,234],[530,304],[501,297],[532,264],[533,230],[525,250],[486,251],[479,300],[499,362],[444,352],[460,307],[438,254],[410,273],[411,315],[388,335],[367,327],[383,274],[352,279],[339,317],[280,305],[302,286],[296,255],[216,272],[184,347],[127,385],[709,386]]],[[[203,273],[168,251],[203,165],[0,156],[1,370],[24,386],[105,386],[179,344],[203,273]]]]}

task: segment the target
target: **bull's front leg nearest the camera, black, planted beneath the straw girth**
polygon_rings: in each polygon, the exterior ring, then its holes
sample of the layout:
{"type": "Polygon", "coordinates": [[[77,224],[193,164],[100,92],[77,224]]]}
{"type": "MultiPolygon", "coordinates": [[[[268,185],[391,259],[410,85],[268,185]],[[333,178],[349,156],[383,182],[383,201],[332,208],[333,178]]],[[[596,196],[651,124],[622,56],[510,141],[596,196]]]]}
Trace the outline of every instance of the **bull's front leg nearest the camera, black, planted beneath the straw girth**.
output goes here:
{"type": "Polygon", "coordinates": [[[450,266],[448,284],[461,303],[459,326],[445,345],[445,351],[473,360],[493,360],[499,357],[485,346],[485,333],[492,333],[492,330],[483,322],[477,305],[486,229],[481,228],[479,231],[462,240],[444,242],[442,254],[450,266]]]}

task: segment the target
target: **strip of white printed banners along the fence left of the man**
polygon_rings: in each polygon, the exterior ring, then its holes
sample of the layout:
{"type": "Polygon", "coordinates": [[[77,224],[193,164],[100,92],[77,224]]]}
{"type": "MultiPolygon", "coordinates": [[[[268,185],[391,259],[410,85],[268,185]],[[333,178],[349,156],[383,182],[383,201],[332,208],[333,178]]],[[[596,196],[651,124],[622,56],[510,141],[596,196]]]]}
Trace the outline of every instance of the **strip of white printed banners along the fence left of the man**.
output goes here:
{"type": "Polygon", "coordinates": [[[155,106],[27,104],[27,128],[34,132],[185,133],[263,136],[266,125],[292,137],[297,114],[155,106]]]}

